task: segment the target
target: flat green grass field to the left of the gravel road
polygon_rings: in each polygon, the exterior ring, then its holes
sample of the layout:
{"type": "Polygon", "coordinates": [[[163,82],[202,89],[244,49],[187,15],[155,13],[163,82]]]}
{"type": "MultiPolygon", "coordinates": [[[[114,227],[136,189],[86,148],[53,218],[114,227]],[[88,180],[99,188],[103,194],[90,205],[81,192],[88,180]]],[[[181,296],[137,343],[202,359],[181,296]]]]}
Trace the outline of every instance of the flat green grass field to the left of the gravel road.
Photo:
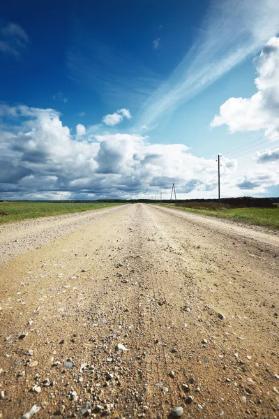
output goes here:
{"type": "Polygon", "coordinates": [[[0,203],[0,224],[12,223],[14,221],[21,221],[24,219],[33,219],[39,216],[51,216],[71,214],[73,212],[99,210],[100,208],[112,207],[113,205],[119,204],[4,202],[0,203]]]}

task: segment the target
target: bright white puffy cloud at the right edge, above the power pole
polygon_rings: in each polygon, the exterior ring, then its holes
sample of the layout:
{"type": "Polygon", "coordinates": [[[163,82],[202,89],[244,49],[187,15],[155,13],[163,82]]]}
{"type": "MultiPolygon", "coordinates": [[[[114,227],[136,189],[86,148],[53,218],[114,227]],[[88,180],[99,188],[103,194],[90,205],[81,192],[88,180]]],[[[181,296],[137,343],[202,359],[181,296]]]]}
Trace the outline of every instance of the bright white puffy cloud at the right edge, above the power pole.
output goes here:
{"type": "Polygon", "coordinates": [[[279,38],[271,38],[254,63],[257,93],[250,98],[229,98],[211,126],[225,124],[232,133],[265,129],[269,134],[279,128],[279,38]]]}

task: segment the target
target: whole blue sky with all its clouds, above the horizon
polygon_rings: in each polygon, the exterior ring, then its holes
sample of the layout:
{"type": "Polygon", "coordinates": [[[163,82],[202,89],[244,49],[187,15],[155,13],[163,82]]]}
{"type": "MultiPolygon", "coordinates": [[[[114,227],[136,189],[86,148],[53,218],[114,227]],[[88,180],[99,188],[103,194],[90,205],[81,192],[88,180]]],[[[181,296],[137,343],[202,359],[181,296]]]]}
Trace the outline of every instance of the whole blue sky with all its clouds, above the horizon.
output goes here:
{"type": "Polygon", "coordinates": [[[223,196],[279,195],[278,22],[277,0],[6,2],[0,198],[216,197],[218,153],[223,196]]]}

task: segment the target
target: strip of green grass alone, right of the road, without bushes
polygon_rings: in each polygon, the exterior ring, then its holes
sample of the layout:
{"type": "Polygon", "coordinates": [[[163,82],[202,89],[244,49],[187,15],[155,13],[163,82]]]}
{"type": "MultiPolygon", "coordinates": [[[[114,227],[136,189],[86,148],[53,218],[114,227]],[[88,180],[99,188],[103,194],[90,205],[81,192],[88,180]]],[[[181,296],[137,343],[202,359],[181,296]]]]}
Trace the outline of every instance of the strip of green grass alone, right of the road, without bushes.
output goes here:
{"type": "Polygon", "coordinates": [[[216,216],[223,219],[241,221],[243,223],[255,224],[279,229],[279,207],[275,208],[233,208],[231,210],[222,209],[218,211],[195,210],[193,208],[176,207],[175,205],[161,204],[164,207],[171,207],[175,210],[195,212],[209,216],[216,216]]]}

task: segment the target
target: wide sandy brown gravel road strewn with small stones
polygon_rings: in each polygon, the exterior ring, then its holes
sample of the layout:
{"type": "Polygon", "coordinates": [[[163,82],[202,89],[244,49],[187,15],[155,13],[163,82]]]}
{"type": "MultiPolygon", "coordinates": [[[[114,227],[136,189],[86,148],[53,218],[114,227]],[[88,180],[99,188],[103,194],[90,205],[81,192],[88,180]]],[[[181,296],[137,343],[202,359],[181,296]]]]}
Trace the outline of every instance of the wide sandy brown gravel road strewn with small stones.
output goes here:
{"type": "Polygon", "coordinates": [[[279,235],[143,204],[28,223],[0,233],[2,418],[279,418],[279,235]]]}

